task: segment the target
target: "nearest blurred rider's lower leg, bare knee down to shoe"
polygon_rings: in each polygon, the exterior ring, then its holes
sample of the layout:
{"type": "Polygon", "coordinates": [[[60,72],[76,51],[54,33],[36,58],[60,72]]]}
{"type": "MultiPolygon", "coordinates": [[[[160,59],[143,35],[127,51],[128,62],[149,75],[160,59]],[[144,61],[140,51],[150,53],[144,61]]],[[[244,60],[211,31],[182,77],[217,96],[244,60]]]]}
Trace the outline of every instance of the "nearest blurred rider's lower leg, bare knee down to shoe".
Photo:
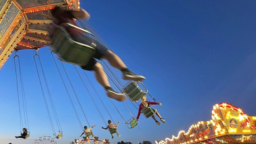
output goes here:
{"type": "Polygon", "coordinates": [[[95,77],[98,83],[100,83],[100,85],[106,89],[108,97],[111,97],[119,102],[126,100],[126,96],[124,94],[117,93],[110,87],[106,73],[104,72],[100,63],[97,62],[93,66],[93,71],[95,72],[95,77]]]}

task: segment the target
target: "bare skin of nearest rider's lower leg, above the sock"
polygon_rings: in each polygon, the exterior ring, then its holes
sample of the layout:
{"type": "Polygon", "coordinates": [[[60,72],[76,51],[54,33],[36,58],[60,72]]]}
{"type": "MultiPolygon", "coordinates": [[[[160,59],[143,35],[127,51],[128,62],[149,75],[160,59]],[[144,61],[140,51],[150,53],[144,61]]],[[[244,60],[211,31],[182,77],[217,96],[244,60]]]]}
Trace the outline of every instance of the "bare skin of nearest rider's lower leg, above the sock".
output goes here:
{"type": "Polygon", "coordinates": [[[97,62],[94,65],[93,71],[95,72],[95,77],[98,83],[100,83],[102,87],[110,87],[106,73],[104,72],[102,65],[100,63],[97,62]]]}

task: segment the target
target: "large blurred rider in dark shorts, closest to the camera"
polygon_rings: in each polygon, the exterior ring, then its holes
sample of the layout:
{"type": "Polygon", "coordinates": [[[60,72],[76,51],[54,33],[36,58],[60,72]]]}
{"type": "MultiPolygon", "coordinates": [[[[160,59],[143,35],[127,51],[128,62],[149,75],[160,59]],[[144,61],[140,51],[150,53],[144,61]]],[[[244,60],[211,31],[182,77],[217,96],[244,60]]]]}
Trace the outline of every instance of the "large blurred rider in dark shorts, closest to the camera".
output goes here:
{"type": "MultiPolygon", "coordinates": [[[[51,13],[57,20],[55,21],[56,25],[71,23],[72,25],[78,27],[78,24],[76,23],[76,21],[74,21],[74,19],[88,20],[90,18],[89,13],[84,9],[80,9],[80,11],[65,11],[61,7],[56,6],[51,10],[51,13]]],[[[106,73],[102,68],[102,65],[98,63],[96,59],[106,59],[109,64],[111,64],[111,66],[117,68],[122,72],[124,80],[142,81],[145,79],[144,76],[131,72],[119,56],[109,51],[100,42],[95,42],[95,40],[93,40],[89,36],[86,36],[82,30],[79,30],[78,28],[72,26],[67,26],[65,28],[74,41],[87,45],[92,45],[93,42],[93,45],[96,45],[95,55],[93,55],[93,57],[86,66],[81,66],[81,68],[83,70],[92,70],[95,73],[96,80],[98,81],[98,83],[100,83],[100,85],[102,85],[102,87],[105,88],[108,97],[111,97],[119,102],[123,102],[126,100],[126,95],[124,95],[123,93],[117,93],[111,88],[106,73]]]]}

